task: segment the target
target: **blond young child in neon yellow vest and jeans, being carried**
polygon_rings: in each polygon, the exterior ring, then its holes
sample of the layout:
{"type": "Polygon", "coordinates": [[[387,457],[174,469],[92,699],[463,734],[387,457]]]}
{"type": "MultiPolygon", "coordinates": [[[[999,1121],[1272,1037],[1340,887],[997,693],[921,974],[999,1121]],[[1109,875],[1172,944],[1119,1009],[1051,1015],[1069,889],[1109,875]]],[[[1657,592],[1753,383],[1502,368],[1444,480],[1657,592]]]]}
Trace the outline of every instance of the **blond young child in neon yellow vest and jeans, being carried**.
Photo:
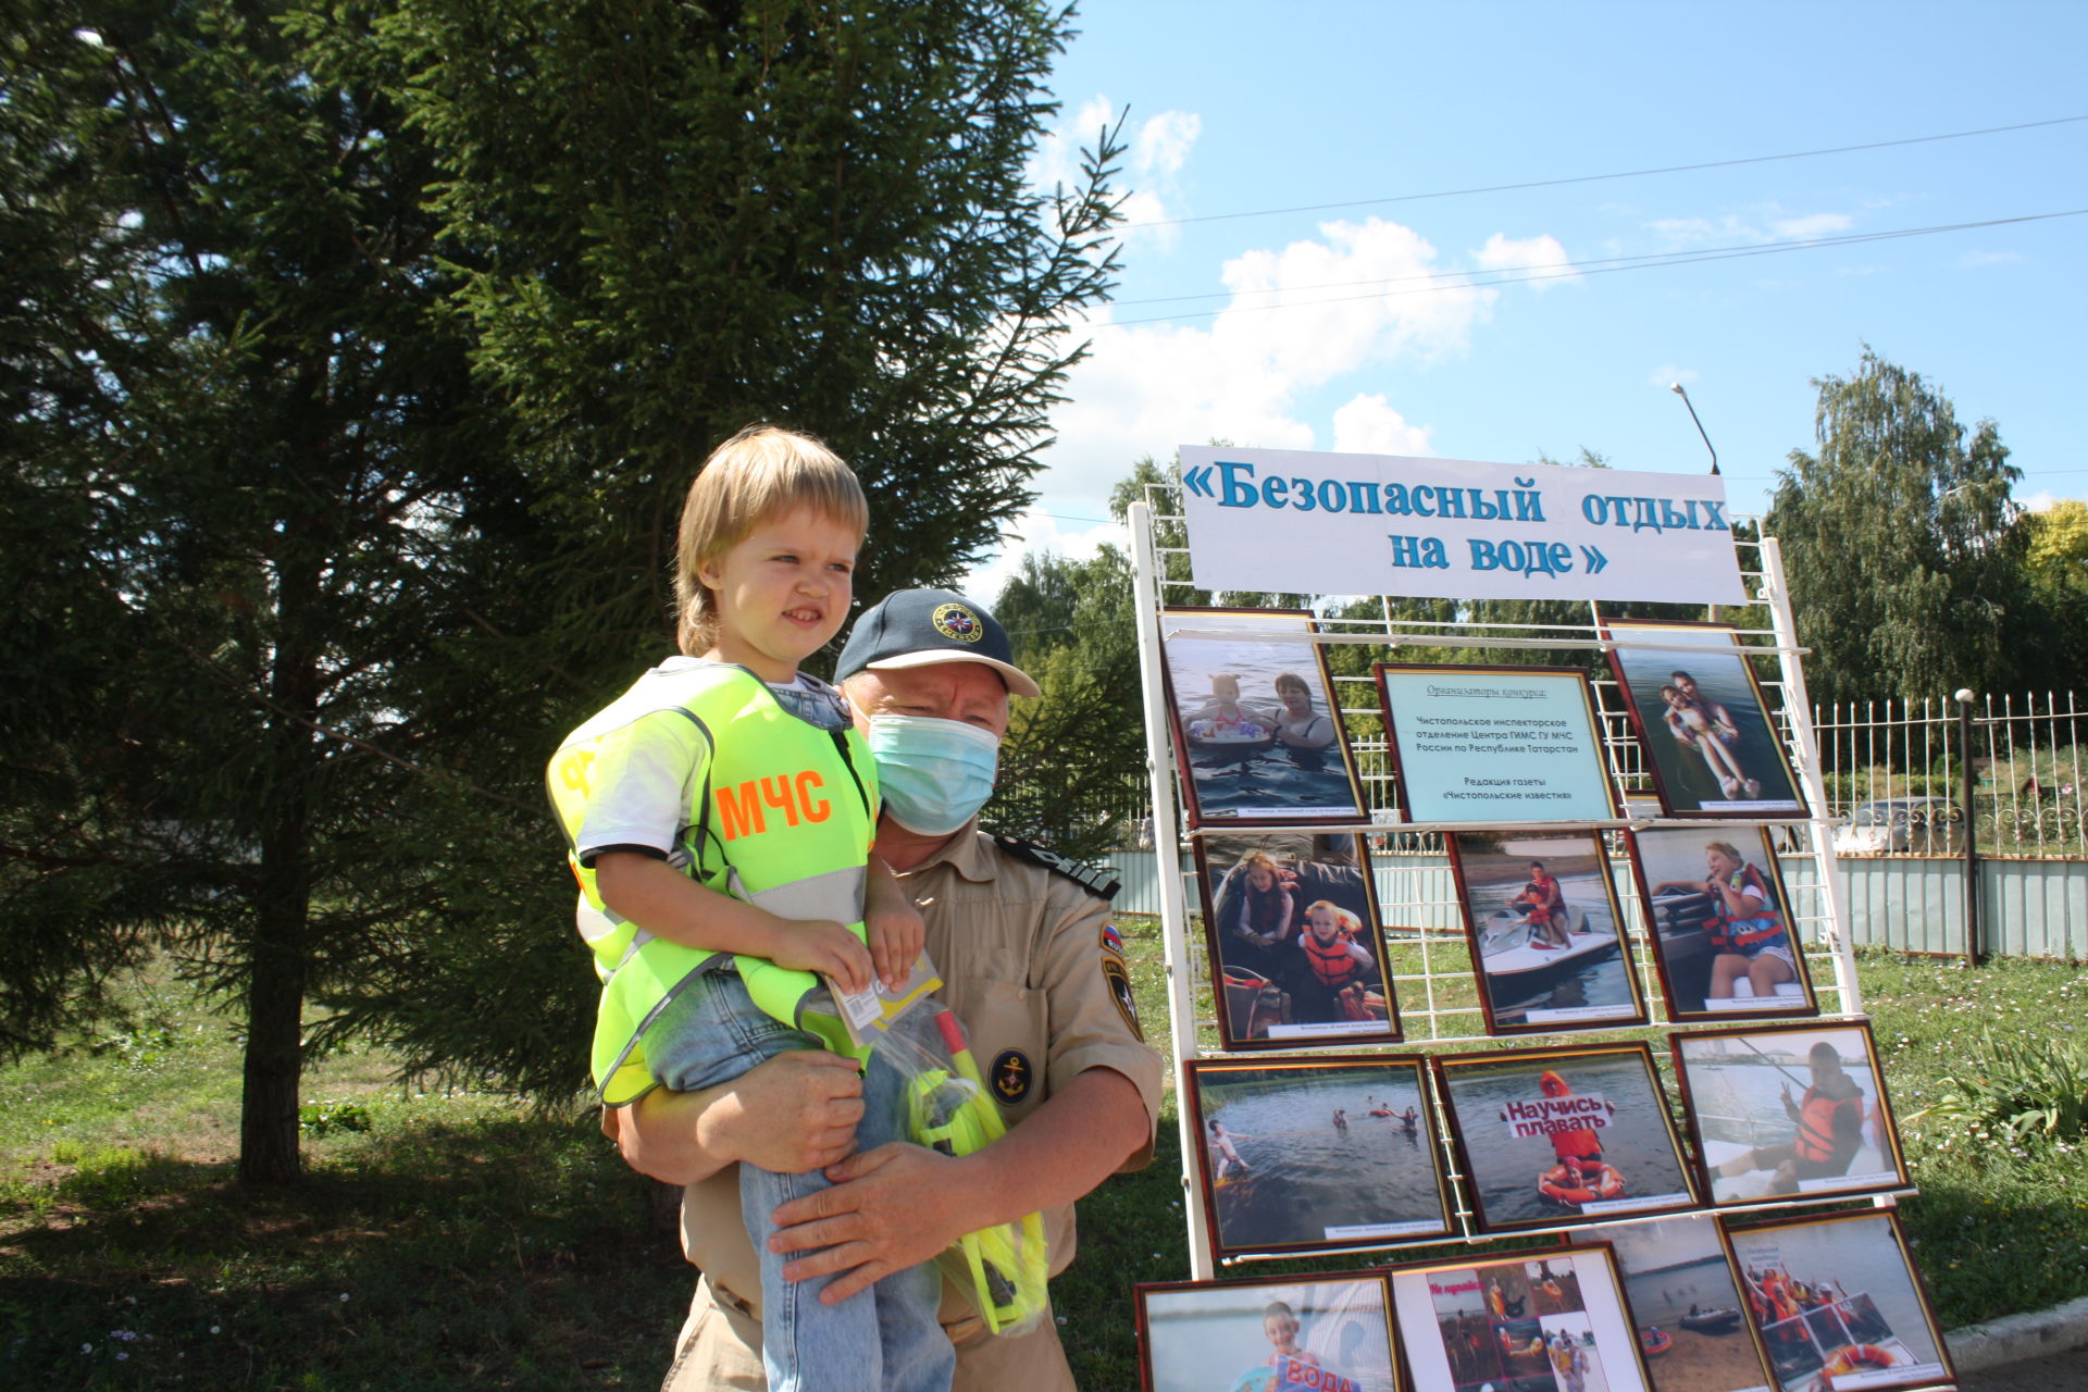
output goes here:
{"type": "MultiPolygon", "coordinates": [[[[714,1087],[787,1050],[856,1052],[810,973],[848,991],[873,975],[898,987],[921,954],[919,912],[871,856],[869,747],[839,691],[798,672],[848,618],[867,522],[854,472],[818,440],[764,426],[720,445],[681,513],[683,655],[551,758],[580,935],[603,979],[593,1066],[608,1106],[658,1083],[714,1087]]],[[[898,1091],[871,1054],[858,1146],[896,1139],[898,1091]]],[[[837,1304],[783,1279],[770,1215],[825,1185],[816,1171],[739,1167],[770,1392],[948,1388],[931,1265],[837,1304]]]]}

